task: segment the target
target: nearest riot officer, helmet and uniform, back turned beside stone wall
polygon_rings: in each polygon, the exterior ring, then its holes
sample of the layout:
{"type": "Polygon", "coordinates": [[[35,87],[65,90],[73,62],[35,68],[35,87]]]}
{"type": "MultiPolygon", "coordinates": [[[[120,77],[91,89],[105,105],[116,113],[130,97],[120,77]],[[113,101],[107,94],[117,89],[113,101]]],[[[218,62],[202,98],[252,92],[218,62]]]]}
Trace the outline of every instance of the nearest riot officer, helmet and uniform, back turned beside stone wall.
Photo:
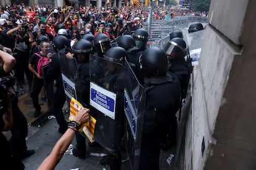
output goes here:
{"type": "Polygon", "coordinates": [[[158,47],[143,52],[140,63],[145,72],[146,103],[139,169],[159,169],[161,144],[179,108],[180,84],[168,73],[168,59],[158,47]]]}

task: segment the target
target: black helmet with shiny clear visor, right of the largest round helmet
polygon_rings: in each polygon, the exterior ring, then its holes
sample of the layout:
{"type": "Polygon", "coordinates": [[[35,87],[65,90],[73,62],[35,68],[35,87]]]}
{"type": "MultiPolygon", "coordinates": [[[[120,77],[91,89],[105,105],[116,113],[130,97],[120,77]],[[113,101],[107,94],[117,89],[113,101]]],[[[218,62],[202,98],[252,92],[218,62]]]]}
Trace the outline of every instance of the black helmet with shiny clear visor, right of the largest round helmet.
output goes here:
{"type": "Polygon", "coordinates": [[[176,52],[176,54],[186,54],[186,42],[182,38],[173,38],[171,39],[167,45],[164,47],[163,51],[171,55],[172,52],[176,52]]]}

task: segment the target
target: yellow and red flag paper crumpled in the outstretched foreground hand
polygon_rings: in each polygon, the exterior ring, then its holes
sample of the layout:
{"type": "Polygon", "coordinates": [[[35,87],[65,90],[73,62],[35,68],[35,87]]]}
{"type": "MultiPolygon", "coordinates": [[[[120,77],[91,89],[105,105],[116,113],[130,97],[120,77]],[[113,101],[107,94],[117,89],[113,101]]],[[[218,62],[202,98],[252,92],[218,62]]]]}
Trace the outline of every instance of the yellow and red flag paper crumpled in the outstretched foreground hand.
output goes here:
{"type": "MultiPolygon", "coordinates": [[[[75,118],[75,115],[79,110],[81,110],[83,106],[81,103],[79,103],[77,100],[75,100],[74,97],[70,100],[70,114],[69,114],[69,120],[72,121],[75,118]]],[[[79,131],[84,132],[85,135],[88,137],[90,142],[93,142],[93,136],[94,136],[94,130],[95,130],[95,123],[96,119],[93,118],[93,116],[90,115],[87,122],[82,124],[79,131]]]]}

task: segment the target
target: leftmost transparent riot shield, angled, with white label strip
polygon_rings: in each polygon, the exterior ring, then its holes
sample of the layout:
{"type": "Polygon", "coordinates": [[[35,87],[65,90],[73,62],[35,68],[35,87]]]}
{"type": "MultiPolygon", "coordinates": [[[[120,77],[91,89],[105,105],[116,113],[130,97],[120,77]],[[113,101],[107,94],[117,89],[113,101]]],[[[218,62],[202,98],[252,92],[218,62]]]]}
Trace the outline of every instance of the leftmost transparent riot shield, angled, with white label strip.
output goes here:
{"type": "Polygon", "coordinates": [[[59,54],[59,64],[61,66],[61,76],[66,96],[70,99],[81,99],[79,91],[79,78],[77,76],[77,60],[68,59],[66,55],[59,54]]]}

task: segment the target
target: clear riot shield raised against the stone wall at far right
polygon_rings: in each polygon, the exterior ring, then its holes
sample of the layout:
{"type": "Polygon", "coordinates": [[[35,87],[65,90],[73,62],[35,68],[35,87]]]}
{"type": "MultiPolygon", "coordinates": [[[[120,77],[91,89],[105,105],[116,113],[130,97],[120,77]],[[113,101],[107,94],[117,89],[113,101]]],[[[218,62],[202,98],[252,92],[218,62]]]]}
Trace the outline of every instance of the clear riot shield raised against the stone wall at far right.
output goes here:
{"type": "Polygon", "coordinates": [[[200,58],[202,43],[203,43],[204,30],[195,31],[186,35],[184,40],[187,42],[187,49],[189,50],[190,58],[192,59],[192,65],[198,65],[198,59],[200,58]]]}

